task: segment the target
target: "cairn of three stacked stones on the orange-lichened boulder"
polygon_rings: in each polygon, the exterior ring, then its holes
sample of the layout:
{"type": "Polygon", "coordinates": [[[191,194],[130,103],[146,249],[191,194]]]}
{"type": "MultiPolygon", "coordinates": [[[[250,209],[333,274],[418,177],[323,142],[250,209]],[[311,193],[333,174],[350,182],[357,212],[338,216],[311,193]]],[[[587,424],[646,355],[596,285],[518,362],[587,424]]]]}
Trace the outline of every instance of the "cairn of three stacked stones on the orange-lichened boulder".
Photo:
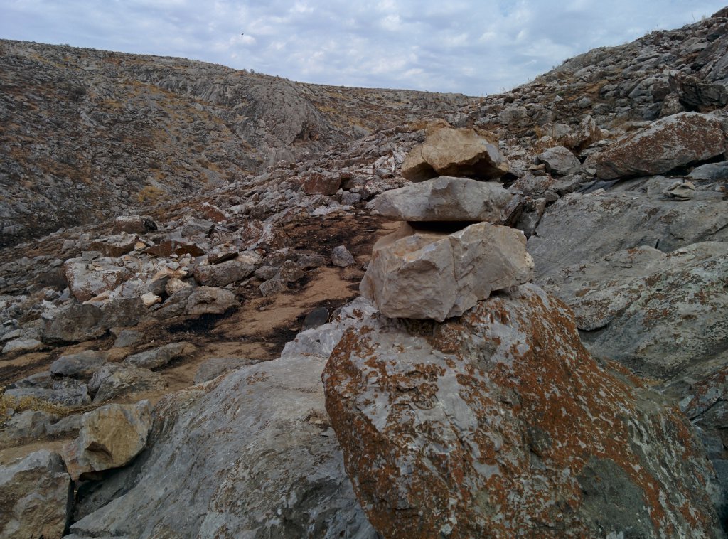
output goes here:
{"type": "Polygon", "coordinates": [[[493,291],[531,280],[526,237],[502,226],[514,209],[513,195],[499,182],[507,171],[492,133],[451,127],[428,133],[402,165],[414,183],[372,203],[403,224],[374,245],[361,294],[387,317],[442,322],[493,291]]]}

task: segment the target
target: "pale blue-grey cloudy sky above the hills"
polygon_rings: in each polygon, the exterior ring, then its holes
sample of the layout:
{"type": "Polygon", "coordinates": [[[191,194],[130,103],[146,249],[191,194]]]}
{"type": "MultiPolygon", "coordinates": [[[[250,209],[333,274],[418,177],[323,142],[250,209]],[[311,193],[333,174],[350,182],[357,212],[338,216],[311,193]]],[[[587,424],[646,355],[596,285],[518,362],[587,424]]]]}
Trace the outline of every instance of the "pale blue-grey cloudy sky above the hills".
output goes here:
{"type": "Polygon", "coordinates": [[[181,56],[301,82],[467,95],[728,0],[0,0],[0,37],[181,56]],[[243,35],[244,34],[244,35],[243,35]]]}

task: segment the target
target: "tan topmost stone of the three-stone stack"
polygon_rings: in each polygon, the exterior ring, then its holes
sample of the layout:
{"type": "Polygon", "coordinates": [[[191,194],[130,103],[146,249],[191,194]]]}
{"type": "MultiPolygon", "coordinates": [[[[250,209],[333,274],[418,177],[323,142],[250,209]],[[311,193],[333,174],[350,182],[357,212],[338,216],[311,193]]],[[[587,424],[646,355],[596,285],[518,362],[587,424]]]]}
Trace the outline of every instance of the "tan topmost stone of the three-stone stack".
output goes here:
{"type": "Polygon", "coordinates": [[[499,152],[496,135],[471,127],[435,130],[402,163],[402,176],[410,181],[436,176],[490,180],[507,172],[508,162],[499,152]]]}

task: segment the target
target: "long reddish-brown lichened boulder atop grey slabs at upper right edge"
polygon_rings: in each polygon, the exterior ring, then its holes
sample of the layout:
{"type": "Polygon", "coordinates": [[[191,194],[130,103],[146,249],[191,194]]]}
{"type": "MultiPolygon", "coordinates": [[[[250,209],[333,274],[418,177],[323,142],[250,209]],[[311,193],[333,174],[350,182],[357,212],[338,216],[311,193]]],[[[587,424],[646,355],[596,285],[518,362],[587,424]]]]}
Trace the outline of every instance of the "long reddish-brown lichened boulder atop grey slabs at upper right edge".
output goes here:
{"type": "Polygon", "coordinates": [[[612,143],[596,157],[596,174],[604,180],[662,174],[725,151],[719,119],[683,112],[612,143]]]}

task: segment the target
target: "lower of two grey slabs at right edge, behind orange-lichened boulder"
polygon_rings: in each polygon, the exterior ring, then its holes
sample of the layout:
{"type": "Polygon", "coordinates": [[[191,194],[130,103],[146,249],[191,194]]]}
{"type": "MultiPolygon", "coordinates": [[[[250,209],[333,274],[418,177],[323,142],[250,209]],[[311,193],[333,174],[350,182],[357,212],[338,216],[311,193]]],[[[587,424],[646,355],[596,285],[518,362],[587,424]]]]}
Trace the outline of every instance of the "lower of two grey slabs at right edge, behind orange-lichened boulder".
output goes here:
{"type": "Polygon", "coordinates": [[[666,254],[618,251],[542,282],[574,310],[585,345],[663,381],[705,377],[727,361],[728,243],[666,254]]]}

